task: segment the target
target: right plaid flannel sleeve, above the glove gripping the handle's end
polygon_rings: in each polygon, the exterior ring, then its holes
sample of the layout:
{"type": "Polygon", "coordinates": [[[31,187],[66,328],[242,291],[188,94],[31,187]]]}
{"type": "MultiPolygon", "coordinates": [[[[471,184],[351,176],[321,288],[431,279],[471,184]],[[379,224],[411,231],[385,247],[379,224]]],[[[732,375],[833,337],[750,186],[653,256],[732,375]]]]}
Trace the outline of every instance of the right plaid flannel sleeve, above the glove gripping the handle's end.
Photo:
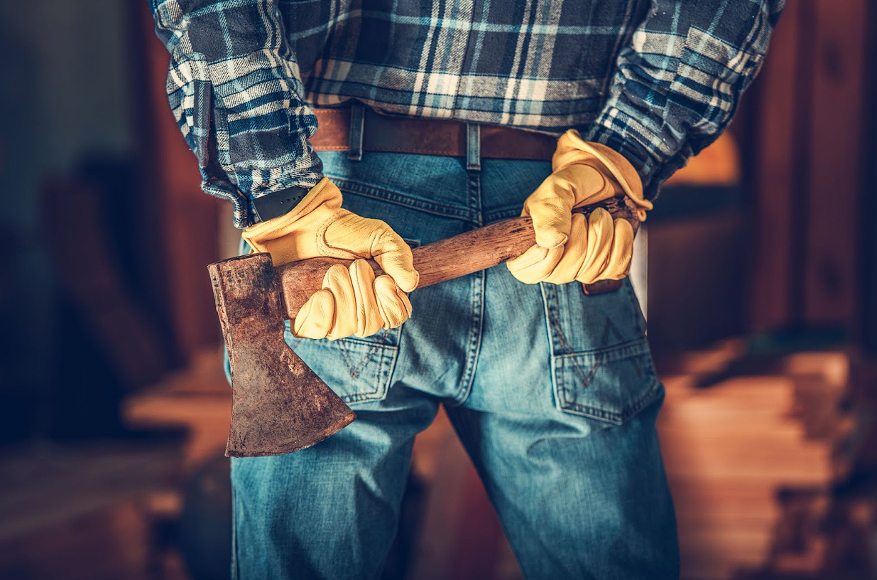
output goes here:
{"type": "Polygon", "coordinates": [[[716,140],[758,73],[785,0],[650,0],[582,135],[624,154],[645,197],[716,140]]]}

